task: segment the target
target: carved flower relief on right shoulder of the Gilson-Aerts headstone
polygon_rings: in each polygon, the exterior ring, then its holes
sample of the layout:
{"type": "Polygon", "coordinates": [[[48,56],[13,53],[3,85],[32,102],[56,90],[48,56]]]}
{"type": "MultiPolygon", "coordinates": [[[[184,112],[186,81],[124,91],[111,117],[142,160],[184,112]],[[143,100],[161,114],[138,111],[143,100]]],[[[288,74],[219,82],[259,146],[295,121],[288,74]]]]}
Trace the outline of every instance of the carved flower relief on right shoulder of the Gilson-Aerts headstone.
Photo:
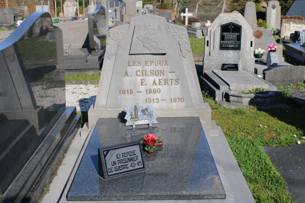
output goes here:
{"type": "Polygon", "coordinates": [[[191,46],[188,41],[188,33],[186,30],[180,29],[178,26],[168,24],[170,35],[177,36],[179,39],[180,51],[184,58],[188,56],[188,52],[191,52],[191,46]]]}

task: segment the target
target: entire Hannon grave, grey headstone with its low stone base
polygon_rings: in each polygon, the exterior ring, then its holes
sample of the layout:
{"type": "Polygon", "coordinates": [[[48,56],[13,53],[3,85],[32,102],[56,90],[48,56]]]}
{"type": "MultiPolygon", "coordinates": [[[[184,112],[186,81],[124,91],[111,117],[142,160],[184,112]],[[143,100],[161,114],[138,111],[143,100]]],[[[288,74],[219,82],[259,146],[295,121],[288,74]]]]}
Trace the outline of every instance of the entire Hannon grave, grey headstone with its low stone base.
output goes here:
{"type": "Polygon", "coordinates": [[[205,38],[203,77],[205,91],[224,106],[271,105],[281,100],[281,92],[255,76],[253,29],[241,14],[220,14],[205,38]],[[264,95],[241,94],[264,88],[264,95]]]}

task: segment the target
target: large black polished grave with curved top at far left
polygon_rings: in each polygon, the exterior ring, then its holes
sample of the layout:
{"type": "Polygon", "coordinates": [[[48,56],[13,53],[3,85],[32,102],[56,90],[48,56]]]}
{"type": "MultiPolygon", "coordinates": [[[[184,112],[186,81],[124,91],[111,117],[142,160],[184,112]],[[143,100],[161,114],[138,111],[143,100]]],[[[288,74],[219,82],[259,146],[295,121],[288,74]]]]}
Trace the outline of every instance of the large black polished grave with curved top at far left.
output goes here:
{"type": "Polygon", "coordinates": [[[35,12],[0,44],[0,202],[39,201],[80,127],[65,105],[62,37],[49,13],[35,12]]]}

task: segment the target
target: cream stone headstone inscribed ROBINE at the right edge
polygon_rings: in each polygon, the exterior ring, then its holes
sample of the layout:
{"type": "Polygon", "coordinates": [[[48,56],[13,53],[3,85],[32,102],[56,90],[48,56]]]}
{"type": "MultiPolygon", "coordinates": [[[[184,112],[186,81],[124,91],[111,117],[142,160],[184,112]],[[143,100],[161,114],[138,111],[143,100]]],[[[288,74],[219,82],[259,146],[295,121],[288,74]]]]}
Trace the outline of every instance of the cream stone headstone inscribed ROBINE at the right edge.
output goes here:
{"type": "Polygon", "coordinates": [[[295,31],[305,30],[305,21],[297,19],[282,19],[281,37],[294,37],[295,31]]]}

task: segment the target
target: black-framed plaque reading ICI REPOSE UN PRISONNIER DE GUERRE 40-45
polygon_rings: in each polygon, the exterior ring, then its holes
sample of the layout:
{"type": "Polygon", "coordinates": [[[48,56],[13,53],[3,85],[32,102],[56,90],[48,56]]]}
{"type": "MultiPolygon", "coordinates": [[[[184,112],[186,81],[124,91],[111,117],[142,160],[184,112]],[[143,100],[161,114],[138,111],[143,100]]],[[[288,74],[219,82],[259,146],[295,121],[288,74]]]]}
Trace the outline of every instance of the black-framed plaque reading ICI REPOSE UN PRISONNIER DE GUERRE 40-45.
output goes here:
{"type": "Polygon", "coordinates": [[[145,170],[140,141],[99,149],[99,176],[105,180],[145,170]]]}

